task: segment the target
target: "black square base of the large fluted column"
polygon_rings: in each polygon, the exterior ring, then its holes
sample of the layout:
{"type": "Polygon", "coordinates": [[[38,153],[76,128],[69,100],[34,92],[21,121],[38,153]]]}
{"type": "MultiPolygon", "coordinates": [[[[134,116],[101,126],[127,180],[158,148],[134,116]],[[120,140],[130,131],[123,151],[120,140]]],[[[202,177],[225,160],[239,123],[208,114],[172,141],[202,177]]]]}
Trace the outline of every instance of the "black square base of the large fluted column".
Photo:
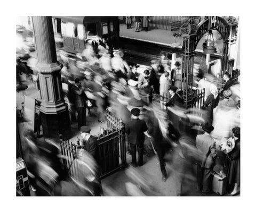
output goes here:
{"type": "Polygon", "coordinates": [[[59,135],[62,134],[63,138],[70,138],[71,131],[68,108],[57,114],[47,114],[41,111],[40,116],[44,137],[59,139],[59,135]]]}

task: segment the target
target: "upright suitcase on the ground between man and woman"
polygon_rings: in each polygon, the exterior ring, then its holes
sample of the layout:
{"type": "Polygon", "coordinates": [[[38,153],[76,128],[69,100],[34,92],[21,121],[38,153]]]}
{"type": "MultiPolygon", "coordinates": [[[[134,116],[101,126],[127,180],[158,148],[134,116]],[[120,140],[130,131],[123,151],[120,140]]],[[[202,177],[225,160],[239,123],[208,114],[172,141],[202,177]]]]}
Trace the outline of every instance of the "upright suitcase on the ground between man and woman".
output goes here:
{"type": "Polygon", "coordinates": [[[212,172],[212,191],[222,196],[226,193],[226,176],[222,176],[216,172],[212,172]]]}

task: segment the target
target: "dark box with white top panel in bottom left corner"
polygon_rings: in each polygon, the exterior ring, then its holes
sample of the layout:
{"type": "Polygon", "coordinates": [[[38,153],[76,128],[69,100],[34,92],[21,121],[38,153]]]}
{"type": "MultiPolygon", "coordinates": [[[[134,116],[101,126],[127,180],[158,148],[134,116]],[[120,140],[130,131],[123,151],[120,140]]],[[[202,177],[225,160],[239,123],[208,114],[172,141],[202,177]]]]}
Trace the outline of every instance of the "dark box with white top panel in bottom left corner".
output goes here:
{"type": "Polygon", "coordinates": [[[27,167],[22,158],[16,159],[17,196],[30,196],[27,167]]]}

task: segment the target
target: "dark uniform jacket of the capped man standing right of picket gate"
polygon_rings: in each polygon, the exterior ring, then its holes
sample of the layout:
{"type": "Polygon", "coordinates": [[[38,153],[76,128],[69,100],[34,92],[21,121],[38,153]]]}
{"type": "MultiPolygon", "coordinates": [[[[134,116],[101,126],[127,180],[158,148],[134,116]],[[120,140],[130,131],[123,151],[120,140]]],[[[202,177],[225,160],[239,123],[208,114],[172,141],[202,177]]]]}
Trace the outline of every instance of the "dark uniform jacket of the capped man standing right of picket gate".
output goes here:
{"type": "Polygon", "coordinates": [[[139,118],[132,118],[125,126],[128,142],[133,145],[143,146],[145,141],[144,132],[148,130],[146,122],[139,118]]]}

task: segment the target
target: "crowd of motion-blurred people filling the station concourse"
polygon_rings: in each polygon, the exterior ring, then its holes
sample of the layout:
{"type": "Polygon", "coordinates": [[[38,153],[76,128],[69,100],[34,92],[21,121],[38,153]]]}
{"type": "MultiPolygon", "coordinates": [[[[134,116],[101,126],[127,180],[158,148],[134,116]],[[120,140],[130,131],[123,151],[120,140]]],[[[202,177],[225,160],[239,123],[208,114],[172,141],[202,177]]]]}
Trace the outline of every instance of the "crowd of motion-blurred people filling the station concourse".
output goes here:
{"type": "MultiPolygon", "coordinates": [[[[31,48],[29,52],[35,51],[31,48]]],[[[35,61],[28,61],[33,57],[30,53],[17,59],[18,73],[37,74],[33,70],[35,61]],[[25,61],[29,69],[21,68],[20,60],[25,61]]],[[[205,89],[204,104],[200,109],[195,109],[186,108],[182,100],[180,62],[176,61],[172,69],[171,61],[165,55],[160,60],[151,61],[150,66],[129,65],[123,60],[122,50],[114,49],[110,54],[100,45],[95,50],[90,43],[75,56],[69,56],[62,49],[57,54],[59,62],[63,64],[61,79],[65,101],[71,121],[78,122],[78,130],[86,131],[86,116],[92,115],[92,108],[97,110],[96,115],[101,123],[106,122],[106,108],[111,108],[126,126],[127,153],[132,155],[133,167],[137,166],[136,149],[139,152],[138,164],[143,165],[146,135],[157,155],[165,182],[170,175],[166,172],[166,166],[170,164],[166,163],[165,155],[167,150],[173,150],[175,157],[171,163],[178,196],[186,193],[184,183],[188,185],[193,180],[191,167],[194,163],[198,165],[198,190],[210,192],[211,173],[218,155],[215,140],[233,137],[233,150],[226,152],[230,162],[226,174],[228,183],[235,186],[231,194],[238,192],[240,94],[239,87],[233,86],[229,73],[224,74],[226,83],[220,89],[217,79],[202,75],[199,69],[195,70],[194,86],[205,89]],[[154,103],[154,92],[162,95],[161,104],[154,103]],[[164,101],[165,96],[167,101],[164,101]],[[167,108],[167,113],[163,108],[167,108]],[[198,135],[202,133],[205,134],[198,135]],[[174,152],[178,152],[178,157],[174,152]]],[[[77,181],[67,179],[63,174],[59,147],[54,141],[45,139],[45,142],[39,143],[33,133],[27,131],[23,142],[30,184],[37,195],[102,195],[99,168],[89,151],[80,150],[77,160],[79,164],[84,164],[84,168],[81,168],[81,177],[77,181]]],[[[126,187],[131,190],[134,184],[127,184],[126,187]]]]}

